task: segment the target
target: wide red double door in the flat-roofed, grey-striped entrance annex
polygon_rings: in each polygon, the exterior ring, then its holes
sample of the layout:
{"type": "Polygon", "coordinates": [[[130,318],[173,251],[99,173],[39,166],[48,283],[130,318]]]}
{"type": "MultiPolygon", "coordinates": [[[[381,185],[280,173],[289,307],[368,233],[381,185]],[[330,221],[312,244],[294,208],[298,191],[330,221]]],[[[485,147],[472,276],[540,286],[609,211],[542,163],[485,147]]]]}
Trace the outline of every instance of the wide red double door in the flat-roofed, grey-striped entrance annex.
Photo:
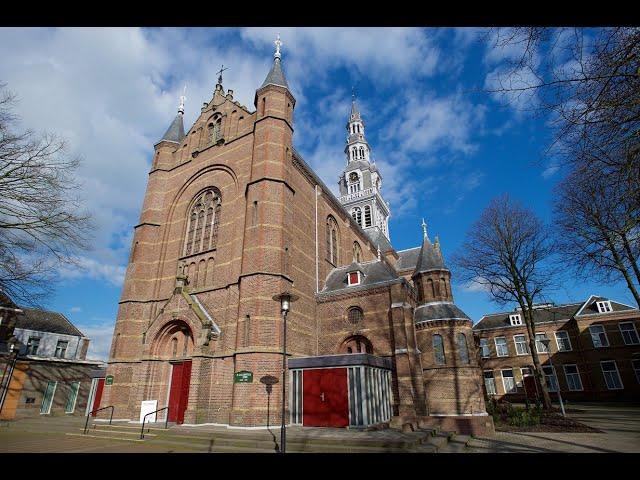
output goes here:
{"type": "Polygon", "coordinates": [[[349,425],[346,368],[304,370],[302,424],[310,427],[349,425]]]}

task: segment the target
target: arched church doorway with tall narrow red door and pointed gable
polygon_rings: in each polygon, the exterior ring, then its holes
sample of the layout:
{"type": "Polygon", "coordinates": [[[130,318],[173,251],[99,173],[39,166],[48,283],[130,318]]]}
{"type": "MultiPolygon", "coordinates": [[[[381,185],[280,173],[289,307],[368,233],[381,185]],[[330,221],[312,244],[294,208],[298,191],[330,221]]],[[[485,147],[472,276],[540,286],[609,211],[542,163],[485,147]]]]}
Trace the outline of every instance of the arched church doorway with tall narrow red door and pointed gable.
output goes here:
{"type": "Polygon", "coordinates": [[[173,320],[164,325],[153,342],[153,355],[166,361],[169,366],[166,406],[169,407],[170,422],[184,422],[184,412],[189,401],[193,346],[193,332],[183,320],[173,320]]]}

